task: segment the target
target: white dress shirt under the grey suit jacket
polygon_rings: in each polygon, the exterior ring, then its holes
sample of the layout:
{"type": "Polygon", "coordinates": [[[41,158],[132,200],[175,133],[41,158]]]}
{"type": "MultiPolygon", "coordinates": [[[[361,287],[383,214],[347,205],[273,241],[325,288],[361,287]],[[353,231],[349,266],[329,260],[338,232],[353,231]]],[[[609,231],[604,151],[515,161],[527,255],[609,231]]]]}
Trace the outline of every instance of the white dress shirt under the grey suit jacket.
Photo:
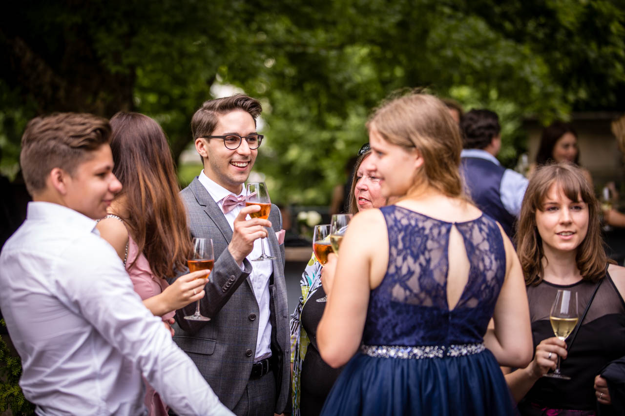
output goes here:
{"type": "MultiPolygon", "coordinates": [[[[209,179],[204,174],[204,170],[200,172],[197,178],[199,182],[206,188],[206,191],[217,203],[219,209],[222,209],[224,205],[224,198],[229,195],[234,195],[226,188],[217,184],[209,179]]],[[[241,193],[239,195],[245,195],[245,184],[242,186],[241,193]]],[[[235,196],[239,196],[235,195],[235,196]]],[[[234,219],[241,211],[242,206],[235,206],[230,212],[224,214],[230,228],[234,230],[234,219]]],[[[246,217],[249,219],[249,215],[246,217]]],[[[252,262],[252,259],[257,259],[262,254],[261,244],[264,244],[265,253],[269,255],[269,243],[266,239],[254,240],[254,248],[252,252],[247,255],[247,260],[250,260],[252,264],[252,272],[249,274],[249,279],[252,282],[252,289],[254,289],[254,297],[258,303],[258,337],[256,338],[256,354],[254,355],[254,361],[264,360],[271,357],[271,322],[269,322],[269,277],[273,273],[273,263],[271,261],[252,262]]]]}

